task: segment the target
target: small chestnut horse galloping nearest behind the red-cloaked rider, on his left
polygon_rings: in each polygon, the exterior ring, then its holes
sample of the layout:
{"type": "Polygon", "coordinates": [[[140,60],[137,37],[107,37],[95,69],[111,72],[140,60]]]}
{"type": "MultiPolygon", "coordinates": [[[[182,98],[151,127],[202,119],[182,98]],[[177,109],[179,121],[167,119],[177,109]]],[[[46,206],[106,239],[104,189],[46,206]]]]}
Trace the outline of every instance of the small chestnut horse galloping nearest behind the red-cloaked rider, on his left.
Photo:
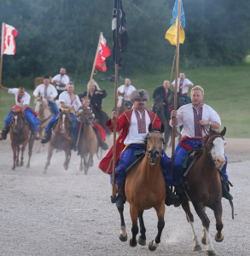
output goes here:
{"type": "Polygon", "coordinates": [[[84,174],[88,173],[90,166],[94,165],[93,157],[98,152],[98,141],[96,138],[96,132],[92,128],[93,114],[91,109],[85,108],[83,112],[84,129],[81,132],[78,150],[81,155],[80,171],[84,171],[84,174]],[[87,155],[89,154],[89,158],[87,155]],[[84,166],[83,166],[84,159],[84,166]]]}

